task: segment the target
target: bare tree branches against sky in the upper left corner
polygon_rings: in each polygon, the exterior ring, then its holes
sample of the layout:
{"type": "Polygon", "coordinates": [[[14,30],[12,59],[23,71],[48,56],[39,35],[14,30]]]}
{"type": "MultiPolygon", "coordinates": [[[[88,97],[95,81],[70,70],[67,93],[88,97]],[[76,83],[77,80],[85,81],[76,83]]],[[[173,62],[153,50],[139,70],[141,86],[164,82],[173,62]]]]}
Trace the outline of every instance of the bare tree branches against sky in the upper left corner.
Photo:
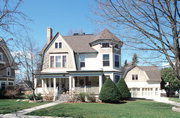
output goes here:
{"type": "Polygon", "coordinates": [[[0,0],[0,35],[16,35],[15,29],[25,28],[23,24],[28,17],[19,10],[23,0],[0,0]],[[23,21],[23,22],[22,22],[23,21]]]}

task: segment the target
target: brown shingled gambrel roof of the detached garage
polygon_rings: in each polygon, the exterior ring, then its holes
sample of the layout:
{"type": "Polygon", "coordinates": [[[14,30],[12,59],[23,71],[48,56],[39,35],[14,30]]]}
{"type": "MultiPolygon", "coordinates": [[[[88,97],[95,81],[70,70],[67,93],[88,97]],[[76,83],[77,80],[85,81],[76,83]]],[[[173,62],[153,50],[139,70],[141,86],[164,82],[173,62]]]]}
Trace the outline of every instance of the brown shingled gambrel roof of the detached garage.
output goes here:
{"type": "Polygon", "coordinates": [[[123,77],[126,77],[127,73],[131,71],[133,68],[138,67],[142,71],[145,71],[146,75],[148,76],[150,82],[161,81],[161,74],[160,70],[156,66],[135,66],[135,65],[128,65],[124,69],[123,77]]]}

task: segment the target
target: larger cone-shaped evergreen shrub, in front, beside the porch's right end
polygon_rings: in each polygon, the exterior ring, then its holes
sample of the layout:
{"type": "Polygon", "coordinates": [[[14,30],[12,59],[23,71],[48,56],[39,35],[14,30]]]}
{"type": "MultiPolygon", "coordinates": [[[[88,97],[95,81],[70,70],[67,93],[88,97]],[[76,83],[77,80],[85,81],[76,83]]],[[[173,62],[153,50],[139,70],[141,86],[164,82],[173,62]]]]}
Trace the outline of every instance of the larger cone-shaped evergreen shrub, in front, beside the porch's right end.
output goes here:
{"type": "Polygon", "coordinates": [[[99,99],[105,103],[117,103],[121,99],[121,94],[110,78],[107,78],[101,88],[99,99]]]}

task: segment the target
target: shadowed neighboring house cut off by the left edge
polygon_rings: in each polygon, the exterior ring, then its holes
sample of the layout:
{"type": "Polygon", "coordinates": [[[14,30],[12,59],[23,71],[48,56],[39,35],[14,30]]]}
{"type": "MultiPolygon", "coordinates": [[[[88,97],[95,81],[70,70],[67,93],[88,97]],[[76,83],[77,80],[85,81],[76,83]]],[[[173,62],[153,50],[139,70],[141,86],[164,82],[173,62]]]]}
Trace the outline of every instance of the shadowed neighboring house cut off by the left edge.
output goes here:
{"type": "Polygon", "coordinates": [[[0,89],[14,85],[15,63],[3,39],[0,39],[0,89]]]}

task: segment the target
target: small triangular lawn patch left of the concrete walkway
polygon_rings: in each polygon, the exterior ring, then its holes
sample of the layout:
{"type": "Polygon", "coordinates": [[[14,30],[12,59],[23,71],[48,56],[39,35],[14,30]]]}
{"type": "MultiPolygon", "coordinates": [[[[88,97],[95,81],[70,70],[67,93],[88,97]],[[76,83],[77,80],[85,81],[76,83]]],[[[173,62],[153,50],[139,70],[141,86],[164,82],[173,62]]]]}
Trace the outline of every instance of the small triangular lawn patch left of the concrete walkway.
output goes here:
{"type": "Polygon", "coordinates": [[[29,103],[29,102],[16,102],[15,99],[0,99],[0,114],[11,113],[45,103],[47,102],[29,103]]]}

